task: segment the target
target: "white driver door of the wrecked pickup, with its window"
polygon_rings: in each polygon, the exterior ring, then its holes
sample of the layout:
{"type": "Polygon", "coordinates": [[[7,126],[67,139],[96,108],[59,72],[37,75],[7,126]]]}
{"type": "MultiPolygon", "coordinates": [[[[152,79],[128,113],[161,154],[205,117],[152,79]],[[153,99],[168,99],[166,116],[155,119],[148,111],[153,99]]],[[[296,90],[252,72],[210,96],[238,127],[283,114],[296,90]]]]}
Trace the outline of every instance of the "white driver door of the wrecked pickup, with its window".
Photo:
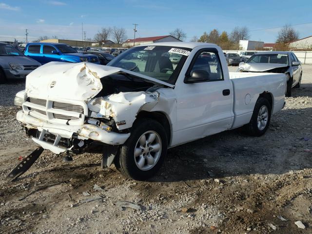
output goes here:
{"type": "Polygon", "coordinates": [[[216,49],[199,50],[192,60],[184,83],[175,88],[177,131],[173,145],[206,137],[231,128],[233,121],[231,81],[224,79],[216,49]],[[214,56],[215,60],[211,59],[214,56]],[[207,80],[188,83],[194,71],[208,74],[207,80]]]}

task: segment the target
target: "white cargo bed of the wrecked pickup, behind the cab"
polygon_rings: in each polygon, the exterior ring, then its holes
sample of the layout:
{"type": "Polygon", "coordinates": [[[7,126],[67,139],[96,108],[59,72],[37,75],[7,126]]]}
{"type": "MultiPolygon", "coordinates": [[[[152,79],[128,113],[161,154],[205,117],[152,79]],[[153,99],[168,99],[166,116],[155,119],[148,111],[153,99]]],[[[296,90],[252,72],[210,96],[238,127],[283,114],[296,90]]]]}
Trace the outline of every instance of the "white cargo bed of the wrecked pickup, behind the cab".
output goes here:
{"type": "Polygon", "coordinates": [[[229,76],[234,89],[232,128],[242,126],[246,119],[251,119],[259,94],[271,94],[272,114],[282,109],[286,89],[285,74],[230,72],[229,76]]]}

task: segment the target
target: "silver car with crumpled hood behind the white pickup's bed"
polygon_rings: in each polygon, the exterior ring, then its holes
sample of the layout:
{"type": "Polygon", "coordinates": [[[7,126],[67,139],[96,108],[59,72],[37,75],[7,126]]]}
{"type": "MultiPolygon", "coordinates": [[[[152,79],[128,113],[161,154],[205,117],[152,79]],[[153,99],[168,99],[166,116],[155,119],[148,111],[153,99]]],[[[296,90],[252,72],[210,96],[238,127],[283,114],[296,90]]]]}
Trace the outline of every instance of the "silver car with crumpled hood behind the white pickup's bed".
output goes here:
{"type": "Polygon", "coordinates": [[[269,51],[254,54],[246,63],[239,64],[239,72],[284,73],[287,79],[286,96],[292,96],[292,88],[301,85],[301,62],[292,52],[269,51]]]}

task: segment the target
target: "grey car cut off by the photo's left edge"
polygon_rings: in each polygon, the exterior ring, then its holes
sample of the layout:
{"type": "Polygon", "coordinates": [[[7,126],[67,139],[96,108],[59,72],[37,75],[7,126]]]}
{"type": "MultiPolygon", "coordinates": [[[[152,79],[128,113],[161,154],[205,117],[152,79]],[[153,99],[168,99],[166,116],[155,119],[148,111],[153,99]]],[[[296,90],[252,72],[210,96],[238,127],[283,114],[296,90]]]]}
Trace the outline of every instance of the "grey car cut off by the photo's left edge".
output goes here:
{"type": "Polygon", "coordinates": [[[40,65],[12,45],[0,42],[0,83],[5,83],[9,79],[26,78],[40,65]]]}

